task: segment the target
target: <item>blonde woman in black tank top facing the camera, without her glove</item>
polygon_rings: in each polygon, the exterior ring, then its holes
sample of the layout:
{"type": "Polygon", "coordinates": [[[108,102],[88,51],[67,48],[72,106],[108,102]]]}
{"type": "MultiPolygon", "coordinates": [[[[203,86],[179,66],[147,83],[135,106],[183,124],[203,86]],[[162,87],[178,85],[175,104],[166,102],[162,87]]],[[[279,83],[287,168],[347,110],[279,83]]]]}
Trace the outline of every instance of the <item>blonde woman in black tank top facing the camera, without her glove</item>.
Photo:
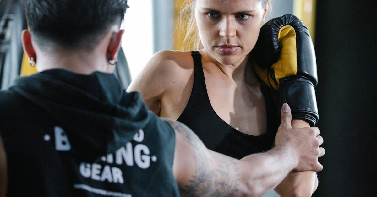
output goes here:
{"type": "MultiPolygon", "coordinates": [[[[189,21],[185,45],[198,50],[157,52],[127,91],[140,91],[160,117],[189,126],[208,149],[237,159],[271,149],[276,106],[248,66],[269,4],[190,0],[183,11],[189,21]]],[[[292,121],[293,128],[306,126],[292,121]]],[[[310,196],[317,184],[315,172],[291,173],[275,191],[310,196]]]]}

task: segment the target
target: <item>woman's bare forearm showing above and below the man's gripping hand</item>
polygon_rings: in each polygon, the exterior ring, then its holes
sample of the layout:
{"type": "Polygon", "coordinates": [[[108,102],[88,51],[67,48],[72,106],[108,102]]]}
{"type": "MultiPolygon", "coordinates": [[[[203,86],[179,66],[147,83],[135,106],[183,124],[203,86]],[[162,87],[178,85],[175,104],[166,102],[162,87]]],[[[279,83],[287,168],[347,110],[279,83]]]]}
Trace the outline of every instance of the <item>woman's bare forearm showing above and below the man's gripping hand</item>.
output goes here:
{"type": "MultiPolygon", "coordinates": [[[[292,128],[308,127],[309,123],[303,120],[292,120],[292,128]]],[[[318,186],[317,173],[314,171],[291,172],[274,189],[282,197],[311,196],[318,186]]]]}

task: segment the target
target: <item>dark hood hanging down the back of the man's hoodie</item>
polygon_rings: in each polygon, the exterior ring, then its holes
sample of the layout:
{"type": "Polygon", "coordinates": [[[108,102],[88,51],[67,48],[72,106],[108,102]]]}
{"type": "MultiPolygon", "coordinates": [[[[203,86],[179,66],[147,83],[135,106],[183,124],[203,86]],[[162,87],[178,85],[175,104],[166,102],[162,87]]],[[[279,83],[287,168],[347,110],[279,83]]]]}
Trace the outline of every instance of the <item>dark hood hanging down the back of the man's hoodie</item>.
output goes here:
{"type": "Polygon", "coordinates": [[[113,74],[52,69],[18,78],[11,89],[57,120],[72,153],[87,162],[130,142],[151,119],[141,94],[127,93],[113,74]]]}

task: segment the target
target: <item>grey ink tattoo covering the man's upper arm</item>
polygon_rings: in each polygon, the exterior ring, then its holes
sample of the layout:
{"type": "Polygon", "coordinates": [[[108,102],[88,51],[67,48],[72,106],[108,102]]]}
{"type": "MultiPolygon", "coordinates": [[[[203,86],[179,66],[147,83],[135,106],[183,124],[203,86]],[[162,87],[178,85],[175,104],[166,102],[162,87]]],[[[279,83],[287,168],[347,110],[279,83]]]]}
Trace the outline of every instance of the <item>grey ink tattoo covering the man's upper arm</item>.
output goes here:
{"type": "Polygon", "coordinates": [[[240,182],[239,168],[234,159],[225,155],[205,154],[209,151],[195,133],[182,123],[167,120],[172,128],[185,135],[193,148],[195,174],[189,184],[180,186],[185,196],[235,196],[240,182]],[[208,156],[209,155],[209,156],[208,156]]]}

